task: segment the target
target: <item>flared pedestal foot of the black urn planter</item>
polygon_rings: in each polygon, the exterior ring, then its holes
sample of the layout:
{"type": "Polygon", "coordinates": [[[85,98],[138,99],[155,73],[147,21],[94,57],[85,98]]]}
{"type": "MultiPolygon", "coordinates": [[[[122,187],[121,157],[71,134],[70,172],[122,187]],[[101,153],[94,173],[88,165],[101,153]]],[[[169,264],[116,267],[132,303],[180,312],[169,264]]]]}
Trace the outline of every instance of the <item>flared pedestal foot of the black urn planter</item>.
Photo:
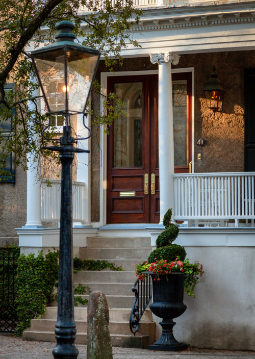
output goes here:
{"type": "Polygon", "coordinates": [[[181,351],[187,349],[186,344],[177,342],[173,336],[173,326],[176,323],[170,320],[160,322],[162,326],[162,335],[160,339],[152,345],[148,346],[149,350],[163,350],[163,351],[181,351]]]}

